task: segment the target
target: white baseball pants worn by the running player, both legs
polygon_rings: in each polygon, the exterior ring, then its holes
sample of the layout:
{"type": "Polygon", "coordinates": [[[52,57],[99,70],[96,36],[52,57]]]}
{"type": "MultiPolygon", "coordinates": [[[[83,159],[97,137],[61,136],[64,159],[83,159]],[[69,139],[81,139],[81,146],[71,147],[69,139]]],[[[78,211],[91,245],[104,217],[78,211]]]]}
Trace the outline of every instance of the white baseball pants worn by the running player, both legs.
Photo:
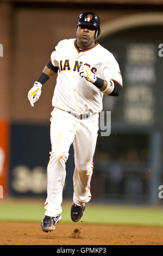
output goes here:
{"type": "Polygon", "coordinates": [[[55,217],[61,214],[62,190],[65,184],[65,163],[73,143],[75,169],[73,174],[73,202],[83,205],[91,199],[90,181],[93,173],[98,113],[87,119],[54,108],[51,113],[52,151],[47,167],[47,199],[45,215],[55,217]]]}

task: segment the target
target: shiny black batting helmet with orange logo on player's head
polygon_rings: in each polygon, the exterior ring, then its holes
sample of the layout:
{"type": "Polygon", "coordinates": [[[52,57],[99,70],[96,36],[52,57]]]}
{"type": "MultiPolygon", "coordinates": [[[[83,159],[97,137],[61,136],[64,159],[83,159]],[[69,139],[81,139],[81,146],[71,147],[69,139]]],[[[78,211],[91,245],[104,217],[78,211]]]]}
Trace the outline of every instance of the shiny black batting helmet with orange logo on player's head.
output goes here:
{"type": "Polygon", "coordinates": [[[85,13],[80,14],[78,17],[77,26],[82,24],[95,26],[97,28],[96,36],[99,36],[101,29],[99,17],[97,14],[91,13],[91,11],[86,11],[85,13]]]}

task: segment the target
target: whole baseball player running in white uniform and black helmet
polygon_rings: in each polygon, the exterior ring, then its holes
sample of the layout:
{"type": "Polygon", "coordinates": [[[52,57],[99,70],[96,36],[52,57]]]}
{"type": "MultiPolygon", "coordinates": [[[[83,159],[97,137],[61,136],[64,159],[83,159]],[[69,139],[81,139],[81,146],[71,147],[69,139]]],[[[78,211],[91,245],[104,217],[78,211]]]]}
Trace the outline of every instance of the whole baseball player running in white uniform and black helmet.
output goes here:
{"type": "Polygon", "coordinates": [[[72,143],[75,169],[71,220],[77,222],[82,218],[85,205],[91,199],[90,181],[103,95],[118,96],[121,93],[118,63],[95,41],[100,33],[100,21],[95,13],[80,14],[76,39],[58,43],[41,76],[28,92],[30,104],[34,106],[43,84],[58,72],[50,119],[52,151],[47,167],[46,211],[41,222],[45,232],[54,230],[61,220],[65,163],[72,143]]]}

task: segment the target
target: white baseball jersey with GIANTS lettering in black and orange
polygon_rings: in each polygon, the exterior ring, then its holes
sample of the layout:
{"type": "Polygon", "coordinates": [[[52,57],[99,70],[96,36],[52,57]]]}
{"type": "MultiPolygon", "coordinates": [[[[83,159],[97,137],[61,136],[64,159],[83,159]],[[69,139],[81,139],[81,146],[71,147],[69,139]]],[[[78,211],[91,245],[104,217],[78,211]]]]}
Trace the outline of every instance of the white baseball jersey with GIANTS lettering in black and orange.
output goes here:
{"type": "Polygon", "coordinates": [[[122,87],[119,65],[103,46],[96,44],[79,53],[75,42],[76,39],[62,40],[51,54],[51,63],[59,67],[52,105],[77,114],[99,113],[103,93],[79,76],[79,66],[88,65],[97,77],[116,81],[122,87]]]}

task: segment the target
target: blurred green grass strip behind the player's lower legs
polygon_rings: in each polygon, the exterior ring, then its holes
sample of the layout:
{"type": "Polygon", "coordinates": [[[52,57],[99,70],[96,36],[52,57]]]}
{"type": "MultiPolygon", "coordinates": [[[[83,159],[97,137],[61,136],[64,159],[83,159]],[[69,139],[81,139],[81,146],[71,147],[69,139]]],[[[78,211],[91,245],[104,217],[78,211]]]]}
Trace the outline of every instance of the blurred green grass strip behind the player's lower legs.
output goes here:
{"type": "MultiPolygon", "coordinates": [[[[62,222],[71,222],[72,202],[62,203],[62,222]]],[[[0,221],[40,222],[44,216],[44,200],[36,199],[0,199],[0,221]]],[[[161,206],[129,206],[93,204],[86,205],[83,223],[127,224],[163,226],[163,208],[161,206]]]]}

